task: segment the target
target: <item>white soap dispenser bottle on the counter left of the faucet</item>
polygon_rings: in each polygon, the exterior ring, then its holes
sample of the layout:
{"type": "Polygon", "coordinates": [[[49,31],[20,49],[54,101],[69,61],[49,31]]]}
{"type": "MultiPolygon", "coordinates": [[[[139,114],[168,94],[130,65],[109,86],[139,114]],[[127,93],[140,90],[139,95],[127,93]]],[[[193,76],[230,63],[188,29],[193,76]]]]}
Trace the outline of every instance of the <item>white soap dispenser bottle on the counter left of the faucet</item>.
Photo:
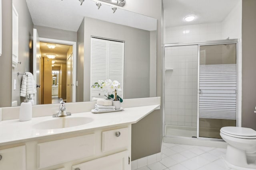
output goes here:
{"type": "Polygon", "coordinates": [[[20,121],[28,121],[32,119],[32,104],[26,99],[20,104],[20,121]]]}

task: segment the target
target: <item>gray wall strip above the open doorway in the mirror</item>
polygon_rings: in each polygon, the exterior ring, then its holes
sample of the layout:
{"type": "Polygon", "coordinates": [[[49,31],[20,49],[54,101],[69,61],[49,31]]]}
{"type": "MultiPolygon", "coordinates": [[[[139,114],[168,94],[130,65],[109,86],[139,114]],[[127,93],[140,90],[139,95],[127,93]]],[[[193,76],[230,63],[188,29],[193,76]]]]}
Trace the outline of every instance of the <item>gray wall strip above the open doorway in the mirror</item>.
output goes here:
{"type": "Polygon", "coordinates": [[[34,28],[37,29],[39,37],[76,42],[76,32],[75,31],[66,31],[63,29],[43,27],[43,26],[38,26],[38,25],[34,25],[34,28]]]}

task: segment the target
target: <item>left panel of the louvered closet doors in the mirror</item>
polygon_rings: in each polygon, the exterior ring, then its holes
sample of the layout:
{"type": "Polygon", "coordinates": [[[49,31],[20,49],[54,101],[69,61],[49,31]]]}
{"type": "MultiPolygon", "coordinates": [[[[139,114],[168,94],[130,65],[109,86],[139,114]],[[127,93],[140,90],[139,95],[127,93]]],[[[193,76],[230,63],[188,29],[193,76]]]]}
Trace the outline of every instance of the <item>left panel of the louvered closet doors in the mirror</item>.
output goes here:
{"type": "MultiPolygon", "coordinates": [[[[98,80],[108,78],[108,42],[103,39],[91,38],[91,84],[98,80]]],[[[90,99],[94,97],[104,98],[104,92],[100,88],[91,87],[90,99]]]]}

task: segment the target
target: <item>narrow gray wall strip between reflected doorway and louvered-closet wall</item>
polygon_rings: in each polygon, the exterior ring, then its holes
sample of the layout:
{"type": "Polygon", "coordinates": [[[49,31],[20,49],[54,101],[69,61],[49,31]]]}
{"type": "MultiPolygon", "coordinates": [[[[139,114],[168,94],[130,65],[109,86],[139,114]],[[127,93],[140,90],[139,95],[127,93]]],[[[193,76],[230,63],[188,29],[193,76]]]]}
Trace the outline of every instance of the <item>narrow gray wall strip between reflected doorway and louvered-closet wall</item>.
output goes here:
{"type": "Polygon", "coordinates": [[[84,19],[77,31],[76,102],[84,101],[84,19]]]}

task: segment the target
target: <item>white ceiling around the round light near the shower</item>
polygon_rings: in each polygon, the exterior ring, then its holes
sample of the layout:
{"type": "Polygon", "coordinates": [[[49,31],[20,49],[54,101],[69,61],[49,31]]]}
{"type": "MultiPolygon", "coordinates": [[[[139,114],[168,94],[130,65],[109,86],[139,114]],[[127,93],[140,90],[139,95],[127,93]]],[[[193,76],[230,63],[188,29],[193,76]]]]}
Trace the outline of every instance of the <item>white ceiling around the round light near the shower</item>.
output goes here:
{"type": "Polygon", "coordinates": [[[221,22],[240,0],[163,0],[166,27],[221,22]],[[184,17],[194,15],[191,22],[184,17]]]}

